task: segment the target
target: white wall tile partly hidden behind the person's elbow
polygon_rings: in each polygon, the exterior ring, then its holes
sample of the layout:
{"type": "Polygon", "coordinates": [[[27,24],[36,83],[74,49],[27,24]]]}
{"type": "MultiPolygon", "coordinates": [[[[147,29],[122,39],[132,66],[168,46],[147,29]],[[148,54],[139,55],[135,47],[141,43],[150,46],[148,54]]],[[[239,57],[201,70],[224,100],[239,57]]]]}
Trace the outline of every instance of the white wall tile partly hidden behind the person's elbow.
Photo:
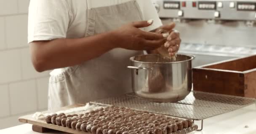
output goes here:
{"type": "Polygon", "coordinates": [[[21,70],[23,79],[49,76],[49,71],[37,72],[31,62],[29,48],[21,49],[21,70]]]}

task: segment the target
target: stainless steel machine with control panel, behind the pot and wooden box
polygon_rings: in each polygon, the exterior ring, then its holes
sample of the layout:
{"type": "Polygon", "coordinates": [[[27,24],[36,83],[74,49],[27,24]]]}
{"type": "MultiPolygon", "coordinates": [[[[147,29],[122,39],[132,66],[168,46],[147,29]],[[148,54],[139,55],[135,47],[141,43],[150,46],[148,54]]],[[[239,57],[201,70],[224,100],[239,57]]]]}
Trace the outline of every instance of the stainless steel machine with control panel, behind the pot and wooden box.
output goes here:
{"type": "Polygon", "coordinates": [[[192,67],[256,54],[256,0],[152,0],[164,24],[176,22],[179,53],[192,67]]]}

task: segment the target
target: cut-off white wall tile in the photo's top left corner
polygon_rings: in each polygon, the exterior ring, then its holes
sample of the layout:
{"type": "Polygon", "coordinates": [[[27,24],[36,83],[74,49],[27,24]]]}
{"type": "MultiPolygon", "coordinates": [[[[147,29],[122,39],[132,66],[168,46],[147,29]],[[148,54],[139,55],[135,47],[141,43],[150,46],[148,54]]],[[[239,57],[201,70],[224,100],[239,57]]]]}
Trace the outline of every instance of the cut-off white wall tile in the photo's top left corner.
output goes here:
{"type": "Polygon", "coordinates": [[[17,11],[17,0],[0,0],[0,15],[9,15],[17,11]]]}

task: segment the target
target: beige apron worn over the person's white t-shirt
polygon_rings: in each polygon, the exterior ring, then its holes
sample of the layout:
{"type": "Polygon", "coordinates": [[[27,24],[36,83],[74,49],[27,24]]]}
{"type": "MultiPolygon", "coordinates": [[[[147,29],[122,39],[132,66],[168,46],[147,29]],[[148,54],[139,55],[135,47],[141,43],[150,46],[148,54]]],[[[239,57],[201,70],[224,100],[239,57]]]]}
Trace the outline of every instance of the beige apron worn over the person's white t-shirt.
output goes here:
{"type": "MultiPolygon", "coordinates": [[[[91,8],[88,1],[86,36],[111,31],[132,21],[142,21],[136,0],[108,7],[91,8]]],[[[113,49],[96,59],[67,67],[50,77],[48,109],[131,93],[129,58],[141,51],[113,49]]]]}

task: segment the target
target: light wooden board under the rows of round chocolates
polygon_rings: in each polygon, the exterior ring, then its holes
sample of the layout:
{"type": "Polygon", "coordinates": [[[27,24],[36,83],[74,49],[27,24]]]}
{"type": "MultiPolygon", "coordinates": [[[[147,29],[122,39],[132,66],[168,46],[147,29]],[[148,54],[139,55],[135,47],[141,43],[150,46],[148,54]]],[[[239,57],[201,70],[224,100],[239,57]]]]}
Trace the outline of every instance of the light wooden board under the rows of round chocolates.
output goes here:
{"type": "MultiPolygon", "coordinates": [[[[85,106],[83,104],[76,104],[76,105],[72,105],[72,106],[67,106],[67,107],[63,107],[59,110],[56,111],[45,111],[44,113],[54,113],[57,111],[62,111],[62,110],[67,110],[70,108],[76,108],[76,107],[81,107],[81,106],[85,106]]],[[[67,127],[63,127],[63,126],[57,126],[57,125],[53,125],[53,124],[47,124],[45,121],[43,120],[36,120],[34,118],[32,118],[33,114],[27,115],[27,116],[22,116],[19,118],[20,122],[23,123],[28,123],[28,124],[33,124],[32,129],[37,131],[37,132],[45,132],[48,131],[47,129],[53,129],[53,130],[58,130],[58,131],[64,131],[67,133],[71,133],[71,134],[90,134],[88,132],[84,132],[84,131],[77,131],[75,129],[69,129],[67,127]],[[47,128],[47,129],[45,129],[47,128]]]]}

